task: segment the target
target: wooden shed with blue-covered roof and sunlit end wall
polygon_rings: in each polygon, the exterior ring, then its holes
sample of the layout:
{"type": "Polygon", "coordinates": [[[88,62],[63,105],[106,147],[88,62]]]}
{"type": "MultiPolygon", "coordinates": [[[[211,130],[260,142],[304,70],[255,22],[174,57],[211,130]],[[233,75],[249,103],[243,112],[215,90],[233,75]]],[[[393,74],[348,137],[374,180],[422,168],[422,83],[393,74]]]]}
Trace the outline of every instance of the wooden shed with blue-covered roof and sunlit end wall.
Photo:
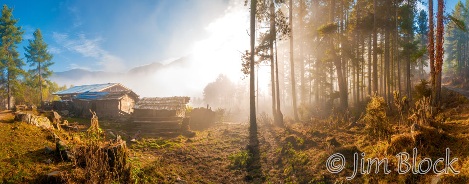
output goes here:
{"type": "Polygon", "coordinates": [[[100,118],[116,118],[132,114],[138,95],[133,91],[85,92],[72,100],[80,116],[91,115],[91,110],[100,118]]]}

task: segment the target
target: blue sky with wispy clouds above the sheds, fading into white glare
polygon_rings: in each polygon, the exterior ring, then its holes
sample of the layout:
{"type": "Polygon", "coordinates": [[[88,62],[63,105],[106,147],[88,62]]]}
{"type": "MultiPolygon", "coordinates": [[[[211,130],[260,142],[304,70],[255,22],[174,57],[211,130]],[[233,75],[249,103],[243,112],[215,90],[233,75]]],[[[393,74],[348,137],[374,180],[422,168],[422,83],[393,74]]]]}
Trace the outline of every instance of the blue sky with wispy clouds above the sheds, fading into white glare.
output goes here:
{"type": "Polygon", "coordinates": [[[6,0],[23,26],[23,46],[36,28],[54,54],[51,69],[127,71],[188,55],[228,0],[6,0]]]}

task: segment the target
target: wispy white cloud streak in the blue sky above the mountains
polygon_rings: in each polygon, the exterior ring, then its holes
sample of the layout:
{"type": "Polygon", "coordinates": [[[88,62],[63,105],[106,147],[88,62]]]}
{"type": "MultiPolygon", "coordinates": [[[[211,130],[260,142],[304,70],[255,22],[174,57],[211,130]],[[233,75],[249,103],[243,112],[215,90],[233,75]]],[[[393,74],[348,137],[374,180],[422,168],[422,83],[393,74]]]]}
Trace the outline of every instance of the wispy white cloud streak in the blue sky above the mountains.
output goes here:
{"type": "Polygon", "coordinates": [[[70,39],[67,34],[54,32],[52,38],[62,47],[69,51],[75,51],[84,57],[98,59],[97,66],[101,66],[105,71],[122,71],[125,69],[124,62],[118,56],[114,56],[101,48],[101,37],[87,39],[84,34],[79,34],[77,38],[70,39]]]}

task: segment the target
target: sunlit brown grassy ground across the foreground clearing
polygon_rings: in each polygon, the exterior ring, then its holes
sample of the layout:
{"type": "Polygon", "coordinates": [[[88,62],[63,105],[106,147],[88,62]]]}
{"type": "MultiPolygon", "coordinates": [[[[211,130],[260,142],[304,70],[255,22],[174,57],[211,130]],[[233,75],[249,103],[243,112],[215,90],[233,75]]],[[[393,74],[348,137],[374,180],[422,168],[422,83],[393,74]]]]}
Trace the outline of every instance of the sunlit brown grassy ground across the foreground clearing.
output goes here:
{"type": "MultiPolygon", "coordinates": [[[[448,95],[446,95],[448,96],[448,95]]],[[[450,95],[449,95],[450,96],[450,95]]],[[[449,97],[448,97],[449,98],[449,97]]],[[[196,131],[194,137],[182,135],[165,137],[124,135],[130,148],[131,162],[138,166],[137,183],[173,184],[187,181],[191,184],[362,184],[362,183],[430,183],[435,177],[443,183],[469,182],[469,103],[460,97],[451,97],[441,111],[443,123],[439,126],[444,138],[435,145],[419,147],[423,152],[417,160],[430,157],[435,160],[444,156],[448,147],[450,157],[457,157],[453,166],[459,174],[434,173],[425,175],[396,172],[385,175],[357,175],[346,180],[353,171],[353,153],[366,153],[365,158],[388,158],[389,170],[396,168],[394,155],[386,154],[388,141],[367,137],[364,125],[349,126],[337,121],[338,117],[311,118],[301,123],[286,122],[285,127],[259,124],[257,139],[259,146],[255,155],[247,150],[247,123],[216,123],[214,126],[196,131]],[[458,102],[456,102],[458,101],[458,102]],[[142,138],[144,137],[144,138],[142,138]],[[326,169],[327,158],[334,153],[346,157],[345,169],[332,174],[326,169]]],[[[24,123],[13,122],[13,113],[0,113],[0,184],[37,183],[46,173],[70,168],[53,154],[45,154],[43,148],[55,149],[44,130],[24,123]],[[18,129],[15,129],[18,127],[18,129]],[[43,162],[51,159],[51,164],[43,162]]],[[[408,113],[404,113],[406,119],[408,113]]],[[[398,115],[388,114],[392,127],[396,127],[398,115]]],[[[69,119],[69,122],[86,124],[87,120],[69,119]]],[[[100,126],[109,133],[121,135],[123,128],[115,123],[101,121],[100,126]]],[[[73,137],[57,132],[64,139],[73,137]]],[[[125,133],[124,133],[125,134],[125,133]]],[[[412,153],[412,150],[406,150],[412,153]]]]}

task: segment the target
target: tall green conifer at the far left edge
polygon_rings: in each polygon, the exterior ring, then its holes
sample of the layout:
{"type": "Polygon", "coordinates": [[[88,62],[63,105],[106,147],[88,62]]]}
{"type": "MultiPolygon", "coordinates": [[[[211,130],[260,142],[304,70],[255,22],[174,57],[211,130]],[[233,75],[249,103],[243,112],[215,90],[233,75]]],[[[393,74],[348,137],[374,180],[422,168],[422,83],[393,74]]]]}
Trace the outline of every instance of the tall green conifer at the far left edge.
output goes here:
{"type": "Polygon", "coordinates": [[[23,40],[21,36],[24,31],[21,31],[22,26],[16,25],[18,20],[13,18],[12,12],[13,8],[3,5],[0,18],[0,60],[7,85],[8,109],[11,108],[12,90],[18,89],[19,78],[24,73],[21,68],[24,63],[18,58],[20,54],[16,51],[17,44],[23,40]]]}

